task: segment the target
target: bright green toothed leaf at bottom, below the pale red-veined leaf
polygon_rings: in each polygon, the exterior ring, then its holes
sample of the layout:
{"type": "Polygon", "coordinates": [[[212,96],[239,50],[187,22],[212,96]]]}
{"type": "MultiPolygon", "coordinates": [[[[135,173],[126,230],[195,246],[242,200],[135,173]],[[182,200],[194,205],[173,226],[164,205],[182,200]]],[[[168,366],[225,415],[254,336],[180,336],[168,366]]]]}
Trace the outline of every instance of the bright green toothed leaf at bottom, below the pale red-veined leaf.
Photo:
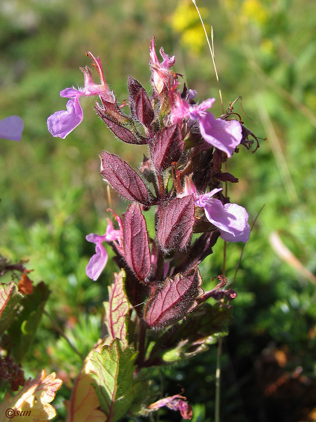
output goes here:
{"type": "Polygon", "coordinates": [[[132,347],[124,348],[123,342],[115,338],[101,353],[93,352],[96,394],[107,421],[120,419],[131,406],[137,392],[133,373],[137,352],[132,347]]]}

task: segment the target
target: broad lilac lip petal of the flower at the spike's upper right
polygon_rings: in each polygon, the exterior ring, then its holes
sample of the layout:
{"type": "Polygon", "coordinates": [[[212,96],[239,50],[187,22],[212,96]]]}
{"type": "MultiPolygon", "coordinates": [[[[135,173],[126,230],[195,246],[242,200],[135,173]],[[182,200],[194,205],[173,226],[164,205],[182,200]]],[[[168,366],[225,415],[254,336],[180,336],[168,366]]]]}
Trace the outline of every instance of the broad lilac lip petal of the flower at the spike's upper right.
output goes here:
{"type": "Polygon", "coordinates": [[[230,157],[241,141],[241,124],[237,120],[216,119],[209,111],[200,112],[199,120],[205,141],[230,157]]]}

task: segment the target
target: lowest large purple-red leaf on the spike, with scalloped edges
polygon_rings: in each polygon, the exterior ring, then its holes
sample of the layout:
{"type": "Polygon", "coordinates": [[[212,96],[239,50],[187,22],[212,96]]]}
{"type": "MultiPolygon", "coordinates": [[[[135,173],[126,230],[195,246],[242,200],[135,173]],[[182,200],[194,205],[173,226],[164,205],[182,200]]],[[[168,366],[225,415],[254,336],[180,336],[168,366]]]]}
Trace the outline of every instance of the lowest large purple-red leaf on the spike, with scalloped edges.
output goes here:
{"type": "Polygon", "coordinates": [[[147,302],[144,317],[150,327],[162,327],[178,321],[197,306],[197,298],[203,294],[202,278],[198,268],[185,276],[167,277],[162,287],[155,289],[147,302]]]}

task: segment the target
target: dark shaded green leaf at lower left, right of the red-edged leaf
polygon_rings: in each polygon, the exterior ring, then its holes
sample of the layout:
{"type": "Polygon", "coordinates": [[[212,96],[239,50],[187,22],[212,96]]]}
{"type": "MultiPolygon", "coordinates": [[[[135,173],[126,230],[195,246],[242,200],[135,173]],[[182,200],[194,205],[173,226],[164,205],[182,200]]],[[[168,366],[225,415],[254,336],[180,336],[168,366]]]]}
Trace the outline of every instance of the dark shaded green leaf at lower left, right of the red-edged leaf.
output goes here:
{"type": "Polygon", "coordinates": [[[21,300],[23,309],[8,328],[8,337],[13,344],[11,354],[16,362],[21,362],[32,344],[49,293],[48,287],[41,281],[34,287],[31,295],[26,295],[21,300]]]}

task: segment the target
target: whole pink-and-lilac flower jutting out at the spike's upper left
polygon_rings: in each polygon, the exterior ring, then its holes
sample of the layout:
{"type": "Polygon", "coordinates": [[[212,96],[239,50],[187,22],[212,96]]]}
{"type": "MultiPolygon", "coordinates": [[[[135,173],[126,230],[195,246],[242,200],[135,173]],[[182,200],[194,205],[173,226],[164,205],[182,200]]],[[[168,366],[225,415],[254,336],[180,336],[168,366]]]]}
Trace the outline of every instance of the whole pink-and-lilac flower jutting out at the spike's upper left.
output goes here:
{"type": "Polygon", "coordinates": [[[83,71],[85,85],[83,88],[66,88],[60,92],[61,97],[70,98],[67,102],[67,111],[56,111],[47,119],[47,127],[50,133],[56,137],[64,139],[67,135],[81,123],[83,119],[82,108],[79,104],[79,97],[88,96],[92,97],[94,95],[99,95],[105,101],[110,103],[115,103],[115,97],[113,92],[110,91],[110,88],[107,86],[107,83],[104,79],[103,68],[101,60],[99,57],[94,57],[94,55],[88,51],[87,56],[90,56],[94,60],[94,67],[99,73],[101,84],[95,84],[92,78],[91,70],[86,68],[80,68],[83,71]]]}

